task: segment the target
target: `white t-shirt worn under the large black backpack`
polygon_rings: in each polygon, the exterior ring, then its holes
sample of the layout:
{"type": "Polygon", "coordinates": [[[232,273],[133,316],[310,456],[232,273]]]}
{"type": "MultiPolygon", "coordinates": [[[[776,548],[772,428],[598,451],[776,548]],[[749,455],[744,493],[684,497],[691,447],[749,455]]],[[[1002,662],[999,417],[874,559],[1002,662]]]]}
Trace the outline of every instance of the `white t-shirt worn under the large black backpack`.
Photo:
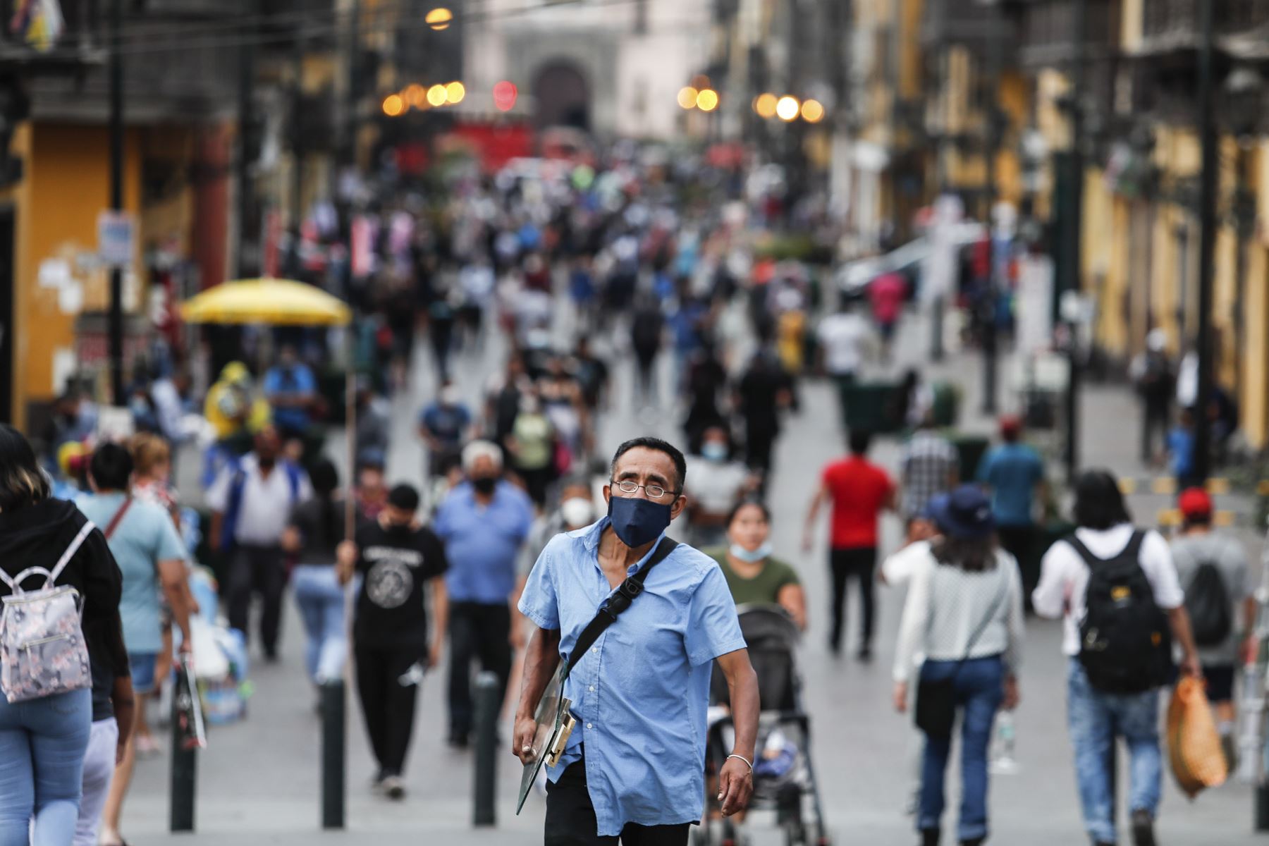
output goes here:
{"type": "MultiPolygon", "coordinates": [[[[1132,531],[1132,524],[1123,523],[1104,531],[1076,529],[1075,537],[1095,557],[1109,559],[1124,550],[1132,531]]],[[[1141,542],[1141,568],[1155,591],[1159,608],[1166,611],[1181,606],[1185,592],[1176,577],[1171,549],[1157,531],[1147,531],[1141,542]]],[[[1088,589],[1089,566],[1080,553],[1065,540],[1049,547],[1041,562],[1039,585],[1032,592],[1032,604],[1041,616],[1057,619],[1065,615],[1062,652],[1072,657],[1080,654],[1080,620],[1084,619],[1088,589]]]]}

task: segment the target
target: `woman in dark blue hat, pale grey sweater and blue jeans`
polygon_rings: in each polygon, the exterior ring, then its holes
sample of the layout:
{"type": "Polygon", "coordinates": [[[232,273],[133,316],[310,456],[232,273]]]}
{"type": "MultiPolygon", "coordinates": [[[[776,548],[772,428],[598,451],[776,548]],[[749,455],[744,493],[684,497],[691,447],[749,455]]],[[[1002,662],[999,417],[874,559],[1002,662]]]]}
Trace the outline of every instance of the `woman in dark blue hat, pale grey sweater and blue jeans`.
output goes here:
{"type": "Polygon", "coordinates": [[[1018,705],[1023,590],[1018,562],[1000,549],[991,502],[964,485],[930,505],[942,535],[917,562],[895,653],[895,708],[907,709],[916,654],[916,726],[925,733],[916,828],[938,846],[944,776],[957,712],[961,722],[962,846],[987,838],[987,746],[996,712],[1018,705]]]}

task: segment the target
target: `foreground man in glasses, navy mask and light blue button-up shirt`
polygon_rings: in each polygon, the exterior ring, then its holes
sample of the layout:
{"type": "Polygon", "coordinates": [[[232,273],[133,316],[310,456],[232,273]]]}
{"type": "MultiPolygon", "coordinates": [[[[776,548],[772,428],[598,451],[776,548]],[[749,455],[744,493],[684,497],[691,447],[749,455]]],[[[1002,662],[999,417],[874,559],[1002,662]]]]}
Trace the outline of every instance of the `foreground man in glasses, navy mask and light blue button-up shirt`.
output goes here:
{"type": "MultiPolygon", "coordinates": [[[[643,567],[683,512],[683,453],[626,441],[604,487],[608,516],[557,535],[520,597],[538,632],[524,658],[513,751],[533,760],[533,712],[561,660],[608,595],[643,567]]],[[[565,684],[577,727],[548,771],[546,846],[685,846],[703,814],[706,709],[714,660],[731,690],[736,745],[718,774],[725,816],[753,793],[758,677],[718,566],[676,547],[565,684]]]]}

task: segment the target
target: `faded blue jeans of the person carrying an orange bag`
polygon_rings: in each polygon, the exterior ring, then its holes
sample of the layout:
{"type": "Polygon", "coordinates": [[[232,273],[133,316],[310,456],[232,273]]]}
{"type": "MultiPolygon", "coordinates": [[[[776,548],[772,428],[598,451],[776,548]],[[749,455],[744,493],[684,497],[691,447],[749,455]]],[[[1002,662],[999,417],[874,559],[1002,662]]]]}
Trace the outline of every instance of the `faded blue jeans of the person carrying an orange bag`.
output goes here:
{"type": "Polygon", "coordinates": [[[1159,691],[1104,694],[1093,687],[1084,666],[1071,658],[1066,676],[1067,723],[1075,747],[1075,779],[1084,827],[1093,840],[1115,842],[1110,750],[1115,737],[1128,743],[1128,808],[1159,810],[1164,760],[1159,751],[1159,691]]]}

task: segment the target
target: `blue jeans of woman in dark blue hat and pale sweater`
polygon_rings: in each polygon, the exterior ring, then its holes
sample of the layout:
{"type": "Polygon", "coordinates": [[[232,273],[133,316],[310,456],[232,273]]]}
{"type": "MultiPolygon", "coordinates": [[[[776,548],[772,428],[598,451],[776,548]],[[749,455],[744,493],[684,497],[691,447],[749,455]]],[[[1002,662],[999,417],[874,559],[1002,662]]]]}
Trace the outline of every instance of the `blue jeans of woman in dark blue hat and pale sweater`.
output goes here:
{"type": "MultiPolygon", "coordinates": [[[[961,821],[959,840],[987,836],[987,745],[991,724],[1005,698],[1005,666],[999,656],[971,661],[926,661],[921,666],[924,681],[956,677],[956,704],[961,712],[961,821]]],[[[921,761],[921,807],[916,814],[917,831],[938,828],[947,802],[943,781],[952,738],[925,737],[921,761]]]]}

